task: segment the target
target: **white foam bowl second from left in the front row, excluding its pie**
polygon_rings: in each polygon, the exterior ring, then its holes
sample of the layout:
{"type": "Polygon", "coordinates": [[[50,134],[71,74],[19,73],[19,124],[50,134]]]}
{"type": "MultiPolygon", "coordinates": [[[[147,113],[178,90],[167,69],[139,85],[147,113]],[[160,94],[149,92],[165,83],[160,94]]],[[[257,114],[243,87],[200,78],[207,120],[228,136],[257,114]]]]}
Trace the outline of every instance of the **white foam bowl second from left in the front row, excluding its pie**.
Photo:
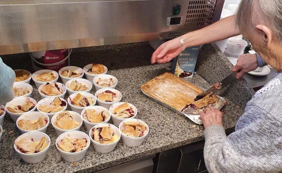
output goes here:
{"type": "Polygon", "coordinates": [[[60,136],[58,136],[58,138],[56,140],[57,150],[60,152],[63,159],[65,161],[69,161],[69,162],[75,162],[75,161],[81,160],[85,156],[86,151],[89,148],[89,146],[90,146],[90,138],[86,133],[84,133],[82,131],[67,131],[67,132],[64,132],[60,136]],[[60,140],[64,139],[64,138],[79,138],[79,139],[86,138],[86,140],[87,140],[86,146],[83,150],[81,150],[79,152],[75,152],[75,153],[69,153],[69,152],[63,151],[59,148],[58,142],[60,140]]]}

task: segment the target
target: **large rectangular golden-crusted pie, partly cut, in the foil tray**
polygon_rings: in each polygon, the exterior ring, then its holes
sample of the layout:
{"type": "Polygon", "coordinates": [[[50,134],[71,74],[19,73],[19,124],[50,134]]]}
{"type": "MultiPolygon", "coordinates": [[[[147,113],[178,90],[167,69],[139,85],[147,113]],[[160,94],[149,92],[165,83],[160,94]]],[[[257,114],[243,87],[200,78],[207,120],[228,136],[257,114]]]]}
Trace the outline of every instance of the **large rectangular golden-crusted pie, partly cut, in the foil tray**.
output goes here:
{"type": "Polygon", "coordinates": [[[147,95],[162,101],[169,106],[182,111],[191,106],[196,109],[205,108],[216,103],[216,95],[207,95],[203,99],[194,101],[203,90],[192,83],[165,72],[141,85],[141,89],[147,95]]]}

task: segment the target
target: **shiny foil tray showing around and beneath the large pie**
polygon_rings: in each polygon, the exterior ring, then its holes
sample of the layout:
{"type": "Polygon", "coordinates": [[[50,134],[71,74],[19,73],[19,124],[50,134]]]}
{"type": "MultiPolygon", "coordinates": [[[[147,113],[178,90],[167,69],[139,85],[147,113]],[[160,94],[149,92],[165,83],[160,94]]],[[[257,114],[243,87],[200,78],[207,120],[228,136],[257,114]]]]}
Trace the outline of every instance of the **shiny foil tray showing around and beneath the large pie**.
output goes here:
{"type": "MultiPolygon", "coordinates": [[[[197,86],[197,85],[195,85],[195,86],[197,86]]],[[[197,86],[197,87],[199,87],[199,86],[197,86]]],[[[203,91],[205,90],[205,89],[203,89],[202,87],[199,87],[199,88],[202,89],[203,91]]],[[[183,111],[181,112],[181,111],[179,111],[179,110],[177,110],[177,109],[175,109],[175,108],[172,108],[170,105],[168,105],[168,104],[166,104],[166,103],[164,103],[164,102],[162,102],[162,101],[160,101],[160,100],[158,100],[158,99],[156,99],[156,98],[154,98],[154,97],[152,97],[152,96],[150,96],[150,95],[147,95],[147,94],[142,90],[142,88],[140,88],[140,89],[141,89],[141,91],[142,91],[142,93],[143,93],[144,95],[146,95],[147,97],[149,97],[149,98],[151,98],[152,100],[156,101],[157,103],[159,103],[159,104],[165,106],[166,108],[172,110],[173,112],[175,112],[175,113],[177,113],[177,114],[179,114],[179,115],[184,115],[184,116],[186,116],[187,118],[189,118],[191,121],[193,121],[194,123],[196,123],[196,124],[198,124],[198,125],[203,124],[203,123],[202,123],[202,120],[199,119],[199,117],[200,117],[200,112],[202,112],[202,111],[204,110],[204,108],[197,110],[197,109],[195,109],[195,108],[190,108],[190,107],[188,107],[188,108],[186,108],[185,110],[183,110],[183,111]]],[[[214,106],[214,107],[216,107],[216,108],[218,108],[218,109],[221,109],[221,108],[225,105],[226,101],[225,101],[224,98],[220,97],[219,95],[216,95],[216,97],[218,97],[218,101],[217,101],[216,103],[210,105],[210,106],[214,106]]]]}

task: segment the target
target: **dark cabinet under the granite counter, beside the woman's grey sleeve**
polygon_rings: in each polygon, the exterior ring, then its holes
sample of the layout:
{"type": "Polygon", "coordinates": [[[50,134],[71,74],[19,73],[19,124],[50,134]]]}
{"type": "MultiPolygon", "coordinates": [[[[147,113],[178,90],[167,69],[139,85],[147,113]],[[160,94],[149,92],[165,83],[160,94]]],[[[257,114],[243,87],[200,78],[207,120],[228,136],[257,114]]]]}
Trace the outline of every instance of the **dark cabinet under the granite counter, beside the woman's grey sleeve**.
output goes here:
{"type": "Polygon", "coordinates": [[[208,172],[203,157],[204,141],[159,153],[155,158],[155,173],[208,172]]]}

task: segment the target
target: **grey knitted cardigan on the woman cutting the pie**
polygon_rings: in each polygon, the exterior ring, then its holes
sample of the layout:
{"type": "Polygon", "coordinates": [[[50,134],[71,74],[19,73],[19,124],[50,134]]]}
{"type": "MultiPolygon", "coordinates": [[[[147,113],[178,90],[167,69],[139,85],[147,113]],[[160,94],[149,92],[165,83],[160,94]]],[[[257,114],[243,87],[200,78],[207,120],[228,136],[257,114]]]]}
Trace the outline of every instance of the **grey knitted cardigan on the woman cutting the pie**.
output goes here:
{"type": "MultiPolygon", "coordinates": [[[[224,115],[223,115],[224,116],[224,115]]],[[[282,170],[282,74],[247,103],[235,132],[220,125],[205,129],[204,158],[212,172],[280,172],[282,170]]]]}

